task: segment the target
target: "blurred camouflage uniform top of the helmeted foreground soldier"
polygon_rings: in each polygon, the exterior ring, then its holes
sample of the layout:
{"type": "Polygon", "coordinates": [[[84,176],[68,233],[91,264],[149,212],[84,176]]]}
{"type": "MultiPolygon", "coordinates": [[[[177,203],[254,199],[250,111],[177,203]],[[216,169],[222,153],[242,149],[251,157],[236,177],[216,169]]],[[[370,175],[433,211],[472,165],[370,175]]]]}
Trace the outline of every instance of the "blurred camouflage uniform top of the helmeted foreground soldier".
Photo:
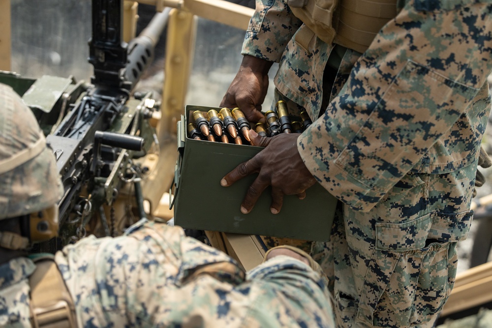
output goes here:
{"type": "MultiPolygon", "coordinates": [[[[79,327],[334,327],[317,266],[277,256],[248,272],[179,227],[141,221],[55,255],[79,327]]],[[[312,260],[311,260],[312,261],[312,260]]],[[[0,327],[29,325],[31,260],[0,266],[0,327]]]]}

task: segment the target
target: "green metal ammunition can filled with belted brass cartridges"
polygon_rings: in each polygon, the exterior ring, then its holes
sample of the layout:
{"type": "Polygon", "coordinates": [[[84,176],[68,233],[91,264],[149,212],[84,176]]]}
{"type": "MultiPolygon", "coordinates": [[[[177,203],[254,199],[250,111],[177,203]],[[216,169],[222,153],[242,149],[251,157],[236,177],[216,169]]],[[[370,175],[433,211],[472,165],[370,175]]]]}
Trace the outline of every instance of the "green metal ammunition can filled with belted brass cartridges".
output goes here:
{"type": "Polygon", "coordinates": [[[220,179],[262,148],[187,137],[186,118],[190,113],[210,109],[215,108],[188,105],[178,122],[179,156],[172,183],[174,190],[170,190],[174,194],[170,207],[174,206],[175,224],[188,229],[328,240],[337,199],[318,183],[306,190],[304,200],[296,195],[285,196],[278,214],[270,212],[270,187],[263,191],[250,213],[241,212],[246,190],[257,175],[252,174],[229,187],[222,187],[220,179]],[[211,206],[217,202],[220,206],[211,206]]]}

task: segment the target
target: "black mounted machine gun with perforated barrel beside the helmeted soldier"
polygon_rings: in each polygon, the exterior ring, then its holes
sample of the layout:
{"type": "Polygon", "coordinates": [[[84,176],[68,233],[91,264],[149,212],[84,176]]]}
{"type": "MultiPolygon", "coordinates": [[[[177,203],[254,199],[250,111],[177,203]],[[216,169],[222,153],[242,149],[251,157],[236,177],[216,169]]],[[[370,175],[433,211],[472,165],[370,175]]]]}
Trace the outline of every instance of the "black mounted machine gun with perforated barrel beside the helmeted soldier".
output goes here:
{"type": "Polygon", "coordinates": [[[54,252],[85,236],[96,213],[104,235],[114,236],[115,218],[109,227],[103,206],[111,206],[127,183],[134,183],[138,216],[145,216],[139,182],[144,169],[134,160],[157,143],[150,120],[159,112],[151,93],[132,91],[153,60],[167,17],[168,11],[155,14],[147,28],[126,44],[123,0],[92,0],[91,84],[46,76],[29,82],[15,74],[0,76],[0,82],[14,85],[34,109],[63,181],[60,237],[40,244],[39,251],[54,252]]]}

